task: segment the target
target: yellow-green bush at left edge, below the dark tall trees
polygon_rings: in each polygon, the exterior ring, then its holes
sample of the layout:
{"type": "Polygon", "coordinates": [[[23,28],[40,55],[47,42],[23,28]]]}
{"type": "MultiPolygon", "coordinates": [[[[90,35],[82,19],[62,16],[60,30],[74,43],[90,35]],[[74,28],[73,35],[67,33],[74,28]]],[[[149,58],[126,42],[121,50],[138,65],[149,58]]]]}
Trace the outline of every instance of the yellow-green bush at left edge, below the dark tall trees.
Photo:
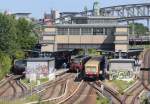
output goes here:
{"type": "Polygon", "coordinates": [[[10,72],[11,62],[7,54],[0,52],[0,79],[10,72]]]}

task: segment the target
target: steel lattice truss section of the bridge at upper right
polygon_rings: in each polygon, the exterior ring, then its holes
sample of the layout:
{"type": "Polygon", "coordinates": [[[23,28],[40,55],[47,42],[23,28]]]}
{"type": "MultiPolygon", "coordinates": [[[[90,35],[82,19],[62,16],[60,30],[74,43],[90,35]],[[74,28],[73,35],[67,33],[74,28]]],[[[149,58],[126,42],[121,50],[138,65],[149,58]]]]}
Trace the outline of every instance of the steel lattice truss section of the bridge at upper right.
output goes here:
{"type": "Polygon", "coordinates": [[[116,17],[150,16],[150,4],[130,4],[101,8],[102,15],[116,17]]]}

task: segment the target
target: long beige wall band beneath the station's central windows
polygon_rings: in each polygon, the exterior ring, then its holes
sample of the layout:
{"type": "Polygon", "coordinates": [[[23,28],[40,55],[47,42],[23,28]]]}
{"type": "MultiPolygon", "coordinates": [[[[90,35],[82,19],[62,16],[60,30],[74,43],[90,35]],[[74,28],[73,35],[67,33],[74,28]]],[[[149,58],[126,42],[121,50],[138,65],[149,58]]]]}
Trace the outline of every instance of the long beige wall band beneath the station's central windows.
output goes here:
{"type": "Polygon", "coordinates": [[[113,36],[106,35],[56,35],[56,43],[64,44],[103,44],[113,43],[113,36]]]}

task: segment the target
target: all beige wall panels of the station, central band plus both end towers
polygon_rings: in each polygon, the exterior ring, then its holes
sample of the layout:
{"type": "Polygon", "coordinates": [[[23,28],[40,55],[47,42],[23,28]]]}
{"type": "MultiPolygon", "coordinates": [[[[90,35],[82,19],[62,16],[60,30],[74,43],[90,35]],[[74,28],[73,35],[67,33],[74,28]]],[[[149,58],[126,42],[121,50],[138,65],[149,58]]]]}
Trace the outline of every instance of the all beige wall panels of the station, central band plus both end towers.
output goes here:
{"type": "MultiPolygon", "coordinates": [[[[56,28],[45,28],[45,32],[55,32],[56,28]]],[[[127,33],[128,28],[120,27],[116,28],[116,33],[127,33]]],[[[100,47],[101,45],[105,46],[105,44],[114,45],[114,41],[127,41],[128,36],[125,35],[55,35],[55,36],[43,36],[43,40],[54,40],[54,43],[45,44],[42,46],[42,52],[44,51],[57,51],[58,44],[68,45],[65,47],[100,47]],[[83,46],[81,46],[83,45],[83,46]],[[97,45],[97,46],[96,46],[97,45]],[[100,45],[100,46],[99,46],[100,45]]],[[[61,47],[61,45],[59,47],[61,47]]],[[[122,50],[123,52],[127,52],[128,44],[121,43],[115,44],[115,47],[112,47],[112,50],[118,51],[122,50]]]]}

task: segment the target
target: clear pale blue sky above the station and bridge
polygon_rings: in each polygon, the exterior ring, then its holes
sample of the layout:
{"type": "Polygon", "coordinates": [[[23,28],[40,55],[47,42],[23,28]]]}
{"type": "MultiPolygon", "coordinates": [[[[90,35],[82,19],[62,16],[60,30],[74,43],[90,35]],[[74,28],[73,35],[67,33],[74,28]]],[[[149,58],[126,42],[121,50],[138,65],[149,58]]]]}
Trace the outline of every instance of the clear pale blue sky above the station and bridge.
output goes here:
{"type": "MultiPolygon", "coordinates": [[[[0,11],[8,10],[11,13],[29,12],[32,17],[42,18],[45,12],[51,9],[60,12],[83,11],[85,6],[92,9],[95,0],[0,0],[0,11]]],[[[96,0],[100,7],[122,4],[150,3],[150,0],[96,0]]]]}

